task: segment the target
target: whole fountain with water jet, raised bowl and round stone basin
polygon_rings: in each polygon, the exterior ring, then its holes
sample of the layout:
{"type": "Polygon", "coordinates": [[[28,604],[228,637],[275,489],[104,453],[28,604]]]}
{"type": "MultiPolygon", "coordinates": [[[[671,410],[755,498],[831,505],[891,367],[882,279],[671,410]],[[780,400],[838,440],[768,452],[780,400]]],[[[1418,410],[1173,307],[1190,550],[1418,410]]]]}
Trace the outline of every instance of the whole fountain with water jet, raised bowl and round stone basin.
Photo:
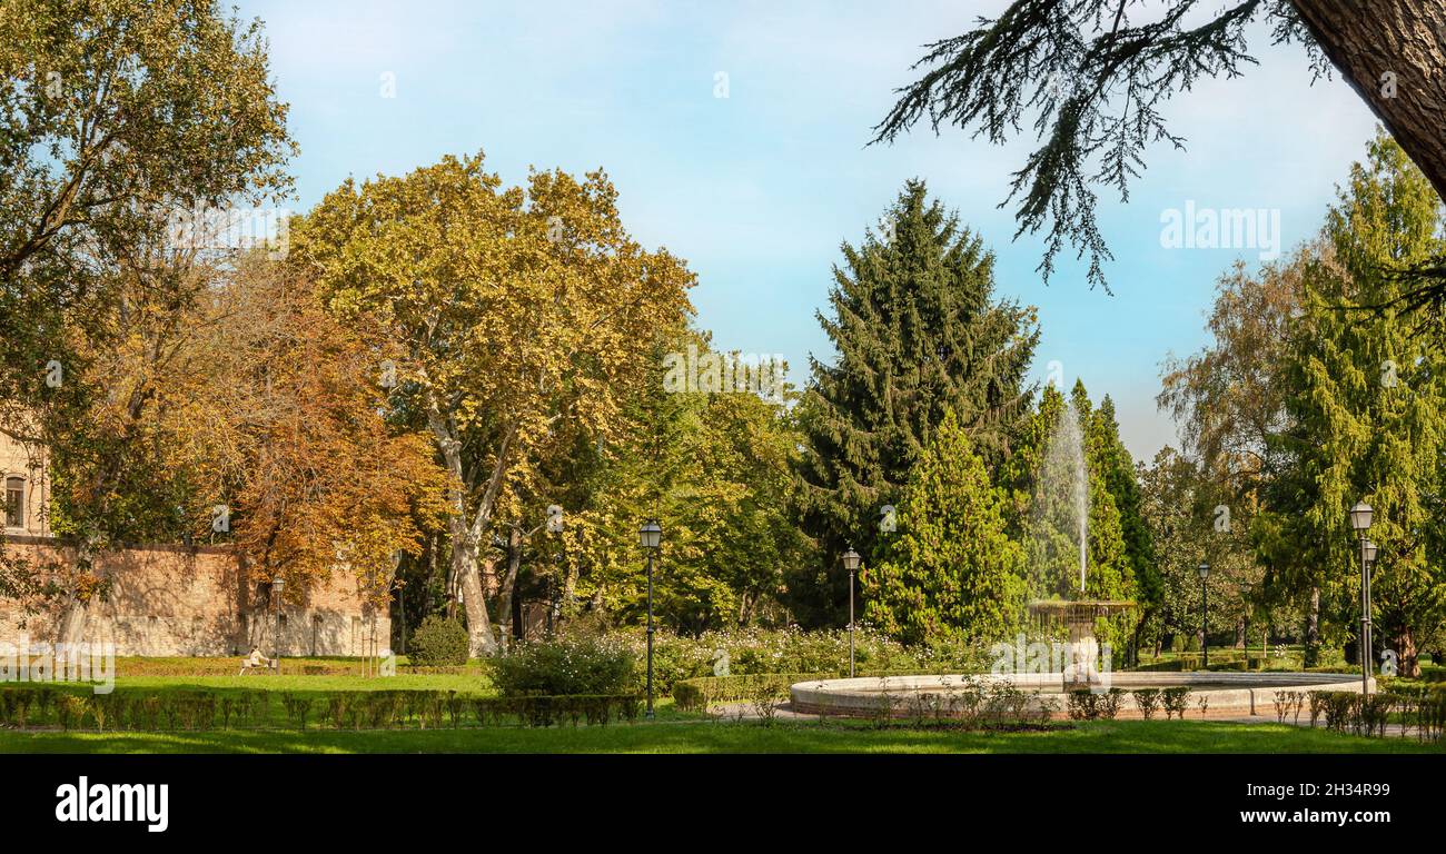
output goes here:
{"type": "MultiPolygon", "coordinates": [[[[1032,692],[1031,708],[1040,714],[1063,717],[1061,704],[1041,695],[1069,691],[1125,689],[1119,717],[1142,717],[1129,689],[1189,686],[1205,701],[1210,715],[1270,715],[1274,695],[1293,691],[1359,691],[1359,678],[1339,673],[1252,673],[1252,672],[1111,672],[1100,669],[1096,623],[1132,610],[1125,600],[1089,598],[1089,471],[1084,444],[1073,406],[1064,409],[1050,436],[1035,484],[1035,519],[1031,526],[1031,587],[1044,595],[1028,601],[1028,613],[1053,624],[1063,624],[1067,643],[1056,646],[1058,669],[1028,672],[1021,666],[1024,636],[1018,653],[1009,649],[1008,665],[996,662],[995,672],[975,675],[863,676],[798,682],[790,689],[794,711],[826,715],[876,717],[908,714],[908,696],[949,695],[964,683],[1008,685],[1032,692]],[[1076,574],[1077,566],[1077,574],[1076,574]]],[[[1009,644],[996,644],[1008,647],[1009,644]]],[[[1054,663],[1051,662],[1051,666],[1054,663]]],[[[943,712],[951,715],[950,711],[943,712]]]]}

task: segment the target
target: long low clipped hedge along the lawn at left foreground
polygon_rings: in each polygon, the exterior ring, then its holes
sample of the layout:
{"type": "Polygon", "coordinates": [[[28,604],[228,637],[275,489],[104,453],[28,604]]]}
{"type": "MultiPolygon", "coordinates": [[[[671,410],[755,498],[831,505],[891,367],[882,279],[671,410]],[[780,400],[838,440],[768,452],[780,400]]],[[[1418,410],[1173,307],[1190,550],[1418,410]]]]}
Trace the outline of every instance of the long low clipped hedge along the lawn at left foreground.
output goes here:
{"type": "Polygon", "coordinates": [[[81,694],[49,686],[0,689],[0,724],[62,730],[182,731],[215,728],[389,730],[525,724],[549,727],[633,721],[642,698],[633,694],[570,696],[474,696],[455,691],[265,689],[153,691],[117,688],[81,694]],[[276,698],[275,701],[272,698],[276,698]]]}

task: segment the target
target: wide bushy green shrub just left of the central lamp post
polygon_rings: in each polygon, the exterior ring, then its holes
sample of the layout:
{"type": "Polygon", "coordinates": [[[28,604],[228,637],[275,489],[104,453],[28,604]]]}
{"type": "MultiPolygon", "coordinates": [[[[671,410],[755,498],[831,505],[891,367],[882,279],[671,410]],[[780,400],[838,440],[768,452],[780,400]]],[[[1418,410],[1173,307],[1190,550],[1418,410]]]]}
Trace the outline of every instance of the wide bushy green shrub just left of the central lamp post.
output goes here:
{"type": "Polygon", "coordinates": [[[633,652],[606,637],[562,637],[515,646],[493,662],[503,696],[529,694],[632,694],[638,689],[633,652]]]}

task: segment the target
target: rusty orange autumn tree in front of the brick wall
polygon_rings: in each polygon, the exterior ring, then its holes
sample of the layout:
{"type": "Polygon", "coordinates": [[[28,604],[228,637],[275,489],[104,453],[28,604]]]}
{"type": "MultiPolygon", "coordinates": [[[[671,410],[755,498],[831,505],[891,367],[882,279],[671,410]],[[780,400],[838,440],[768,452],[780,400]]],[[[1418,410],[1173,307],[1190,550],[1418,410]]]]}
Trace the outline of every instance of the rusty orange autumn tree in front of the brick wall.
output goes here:
{"type": "Polygon", "coordinates": [[[189,465],[226,499],[252,579],[281,575],[299,600],[341,569],[380,605],[396,561],[421,553],[445,516],[450,483],[425,434],[389,423],[367,337],[331,316],[294,266],[257,254],[202,322],[208,384],[178,400],[176,420],[213,438],[189,465]]]}

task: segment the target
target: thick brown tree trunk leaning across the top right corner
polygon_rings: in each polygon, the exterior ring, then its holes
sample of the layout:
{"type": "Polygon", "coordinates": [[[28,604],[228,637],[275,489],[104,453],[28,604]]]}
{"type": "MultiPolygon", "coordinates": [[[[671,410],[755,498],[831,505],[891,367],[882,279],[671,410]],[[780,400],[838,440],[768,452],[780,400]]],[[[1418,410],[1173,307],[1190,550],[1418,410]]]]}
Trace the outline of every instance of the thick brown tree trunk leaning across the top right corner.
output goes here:
{"type": "Polygon", "coordinates": [[[1330,62],[1446,198],[1446,4],[1291,0],[1330,62]]]}

